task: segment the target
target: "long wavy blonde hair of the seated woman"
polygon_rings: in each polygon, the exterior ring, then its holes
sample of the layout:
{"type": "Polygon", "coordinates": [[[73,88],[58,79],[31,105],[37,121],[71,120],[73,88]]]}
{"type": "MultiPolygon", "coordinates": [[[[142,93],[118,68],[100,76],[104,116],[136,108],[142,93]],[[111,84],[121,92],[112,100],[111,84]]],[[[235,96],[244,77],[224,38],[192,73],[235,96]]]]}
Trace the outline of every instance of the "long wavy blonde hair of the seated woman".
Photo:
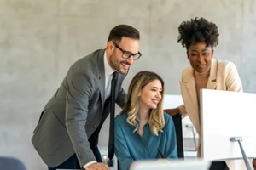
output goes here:
{"type": "Polygon", "coordinates": [[[137,111],[139,109],[138,94],[141,89],[143,89],[148,83],[153,82],[154,80],[159,80],[161,82],[162,98],[160,99],[156,109],[149,110],[148,123],[151,133],[153,133],[155,136],[158,136],[159,131],[162,130],[166,124],[162,106],[165,94],[165,84],[163,79],[158,74],[152,71],[140,71],[135,75],[135,77],[133,77],[128,88],[128,93],[126,96],[127,101],[120,114],[127,113],[128,117],[126,121],[131,124],[131,126],[135,127],[133,132],[136,132],[138,130],[138,123],[136,121],[137,111]]]}

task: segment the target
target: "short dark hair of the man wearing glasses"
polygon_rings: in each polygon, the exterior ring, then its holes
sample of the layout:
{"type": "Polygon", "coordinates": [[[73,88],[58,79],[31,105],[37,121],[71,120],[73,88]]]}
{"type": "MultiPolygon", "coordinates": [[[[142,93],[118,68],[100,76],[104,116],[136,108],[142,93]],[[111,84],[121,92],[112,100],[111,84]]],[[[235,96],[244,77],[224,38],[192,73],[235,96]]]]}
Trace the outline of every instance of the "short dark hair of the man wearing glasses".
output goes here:
{"type": "Polygon", "coordinates": [[[128,25],[119,25],[113,27],[108,36],[108,42],[114,41],[119,43],[122,37],[131,37],[132,39],[139,40],[140,33],[136,28],[128,25]]]}

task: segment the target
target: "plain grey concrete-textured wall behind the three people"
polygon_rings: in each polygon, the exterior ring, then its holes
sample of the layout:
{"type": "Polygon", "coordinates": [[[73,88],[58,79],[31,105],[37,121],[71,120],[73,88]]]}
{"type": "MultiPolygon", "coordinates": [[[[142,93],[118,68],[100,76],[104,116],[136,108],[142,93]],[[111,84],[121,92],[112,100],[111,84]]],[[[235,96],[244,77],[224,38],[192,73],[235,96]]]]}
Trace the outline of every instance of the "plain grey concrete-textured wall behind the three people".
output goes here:
{"type": "Polygon", "coordinates": [[[137,71],[150,70],[164,78],[167,94],[179,94],[189,62],[177,27],[195,16],[218,25],[213,57],[233,61],[244,91],[256,93],[255,0],[0,0],[0,155],[18,157],[28,169],[46,168],[30,142],[40,111],[69,66],[105,48],[118,24],[137,27],[142,37],[143,57],[124,87],[137,71]]]}

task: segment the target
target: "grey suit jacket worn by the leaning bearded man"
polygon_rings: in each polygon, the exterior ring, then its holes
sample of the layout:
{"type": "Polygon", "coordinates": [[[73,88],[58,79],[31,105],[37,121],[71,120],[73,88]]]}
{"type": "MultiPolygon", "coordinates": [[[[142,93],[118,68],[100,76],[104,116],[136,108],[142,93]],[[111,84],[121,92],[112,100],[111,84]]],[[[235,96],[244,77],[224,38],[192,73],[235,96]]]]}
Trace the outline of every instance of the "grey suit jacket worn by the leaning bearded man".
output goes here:
{"type": "MultiPolygon", "coordinates": [[[[80,166],[96,161],[88,139],[109,114],[105,105],[104,49],[96,50],[75,62],[60,88],[44,107],[32,144],[49,167],[56,167],[74,153],[80,166]]],[[[125,105],[125,91],[121,88],[126,75],[118,75],[116,103],[125,105]]]]}

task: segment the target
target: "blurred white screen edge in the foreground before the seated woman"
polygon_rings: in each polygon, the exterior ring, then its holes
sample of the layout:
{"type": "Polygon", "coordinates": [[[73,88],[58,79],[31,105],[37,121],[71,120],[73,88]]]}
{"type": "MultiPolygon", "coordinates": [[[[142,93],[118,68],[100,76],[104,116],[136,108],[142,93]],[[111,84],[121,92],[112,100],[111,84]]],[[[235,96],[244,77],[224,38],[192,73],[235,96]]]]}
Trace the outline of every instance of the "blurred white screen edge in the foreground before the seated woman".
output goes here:
{"type": "Polygon", "coordinates": [[[194,160],[194,161],[136,161],[130,170],[208,170],[210,162],[194,160]]]}

